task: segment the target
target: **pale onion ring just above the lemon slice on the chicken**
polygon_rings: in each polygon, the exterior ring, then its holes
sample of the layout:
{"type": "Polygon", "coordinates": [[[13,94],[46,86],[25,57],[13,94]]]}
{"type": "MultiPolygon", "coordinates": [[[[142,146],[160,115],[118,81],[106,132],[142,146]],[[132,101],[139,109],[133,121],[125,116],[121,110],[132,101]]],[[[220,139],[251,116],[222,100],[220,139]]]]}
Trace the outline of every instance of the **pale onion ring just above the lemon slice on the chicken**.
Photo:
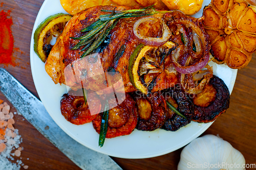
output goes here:
{"type": "Polygon", "coordinates": [[[139,25],[141,25],[141,23],[143,23],[143,22],[156,22],[156,21],[158,21],[158,18],[143,17],[141,19],[138,19],[134,23],[133,33],[139,39],[139,41],[141,43],[143,43],[145,45],[150,45],[150,46],[161,46],[169,40],[172,33],[170,32],[170,29],[167,27],[163,18],[161,18],[161,26],[162,26],[162,34],[163,34],[163,36],[161,38],[145,37],[145,36],[141,36],[138,33],[138,27],[139,27],[139,25]]]}

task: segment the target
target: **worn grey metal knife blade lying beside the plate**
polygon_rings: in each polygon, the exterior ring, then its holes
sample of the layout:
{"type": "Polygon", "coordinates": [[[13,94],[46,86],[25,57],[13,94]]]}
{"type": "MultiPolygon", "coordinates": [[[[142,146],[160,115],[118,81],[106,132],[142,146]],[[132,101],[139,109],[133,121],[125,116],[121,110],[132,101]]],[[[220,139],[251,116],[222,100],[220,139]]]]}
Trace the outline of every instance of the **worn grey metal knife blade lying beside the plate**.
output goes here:
{"type": "Polygon", "coordinates": [[[28,122],[81,169],[122,169],[109,156],[84,147],[62,131],[44,105],[4,68],[0,68],[0,91],[28,122]],[[45,129],[47,126],[49,129],[45,129]]]}

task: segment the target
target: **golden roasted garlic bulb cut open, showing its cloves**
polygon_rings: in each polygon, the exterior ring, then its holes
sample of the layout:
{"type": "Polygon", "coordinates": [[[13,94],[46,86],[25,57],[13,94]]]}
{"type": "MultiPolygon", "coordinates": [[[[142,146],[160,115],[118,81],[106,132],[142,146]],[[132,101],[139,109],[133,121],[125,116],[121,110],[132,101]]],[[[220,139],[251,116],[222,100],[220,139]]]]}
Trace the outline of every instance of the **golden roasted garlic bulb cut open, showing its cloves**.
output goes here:
{"type": "Polygon", "coordinates": [[[253,5],[249,0],[211,0],[204,8],[201,19],[210,36],[210,52],[216,63],[239,69],[250,62],[256,50],[256,6],[253,5]]]}

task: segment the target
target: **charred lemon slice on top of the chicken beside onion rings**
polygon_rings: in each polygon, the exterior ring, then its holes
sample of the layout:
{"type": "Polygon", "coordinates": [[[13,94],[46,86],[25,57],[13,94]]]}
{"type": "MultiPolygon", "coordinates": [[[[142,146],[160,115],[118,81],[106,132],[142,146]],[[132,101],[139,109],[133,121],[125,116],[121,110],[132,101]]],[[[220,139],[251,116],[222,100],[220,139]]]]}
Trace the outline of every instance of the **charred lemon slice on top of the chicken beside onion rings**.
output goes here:
{"type": "Polygon", "coordinates": [[[129,60],[129,76],[134,87],[143,94],[157,91],[154,87],[158,75],[164,71],[164,59],[176,46],[171,41],[160,47],[139,44],[129,60]]]}

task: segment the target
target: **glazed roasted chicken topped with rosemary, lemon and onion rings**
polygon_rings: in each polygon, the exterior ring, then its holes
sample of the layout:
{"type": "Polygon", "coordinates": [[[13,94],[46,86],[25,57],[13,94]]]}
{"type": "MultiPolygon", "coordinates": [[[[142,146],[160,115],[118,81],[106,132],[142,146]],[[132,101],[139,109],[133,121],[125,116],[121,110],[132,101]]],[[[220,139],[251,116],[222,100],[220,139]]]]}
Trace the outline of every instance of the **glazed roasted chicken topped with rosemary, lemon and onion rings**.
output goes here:
{"type": "MultiPolygon", "coordinates": [[[[129,7],[96,6],[73,16],[57,39],[46,61],[45,68],[52,80],[55,83],[66,84],[74,90],[83,86],[86,89],[97,91],[98,94],[111,92],[112,89],[107,89],[111,85],[115,86],[116,92],[121,92],[123,89],[125,92],[133,92],[136,88],[131,83],[131,77],[129,77],[129,59],[136,47],[144,42],[135,35],[139,34],[141,37],[150,38],[164,37],[166,31],[163,31],[163,28],[169,30],[169,42],[177,45],[173,45],[170,48],[171,50],[164,54],[164,62],[160,62],[162,63],[161,69],[159,69],[161,71],[158,70],[152,76],[146,75],[144,77],[145,81],[143,80],[143,82],[154,82],[155,85],[158,85],[154,86],[151,92],[173,87],[177,84],[177,71],[190,74],[202,69],[207,64],[209,60],[208,35],[195,22],[195,19],[178,11],[165,11],[151,16],[155,18],[154,21],[140,23],[136,34],[134,32],[135,23],[142,17],[120,19],[100,46],[91,55],[83,57],[81,60],[84,46],[74,50],[74,46],[80,42],[76,38],[87,34],[81,32],[81,30],[92,25],[99,19],[100,15],[106,14],[102,10],[122,11],[127,9],[129,7]],[[179,27],[182,27],[183,31],[179,27]],[[186,38],[187,34],[189,38],[186,38]],[[184,45],[181,44],[181,35],[185,38],[184,45]],[[197,41],[195,47],[192,47],[193,40],[197,41]],[[183,50],[171,54],[178,45],[179,49],[183,50]],[[194,48],[197,50],[196,53],[192,51],[194,48]],[[186,52],[189,52],[189,54],[185,55],[186,52]],[[182,64],[184,55],[186,59],[190,58],[186,65],[182,64]],[[115,80],[111,83],[108,80],[108,72],[116,72],[115,80]],[[152,80],[148,81],[148,79],[152,80]],[[115,84],[113,82],[119,83],[115,84]]],[[[159,44],[156,46],[159,46],[159,44]]],[[[156,67],[154,64],[148,66],[156,67]]]]}

